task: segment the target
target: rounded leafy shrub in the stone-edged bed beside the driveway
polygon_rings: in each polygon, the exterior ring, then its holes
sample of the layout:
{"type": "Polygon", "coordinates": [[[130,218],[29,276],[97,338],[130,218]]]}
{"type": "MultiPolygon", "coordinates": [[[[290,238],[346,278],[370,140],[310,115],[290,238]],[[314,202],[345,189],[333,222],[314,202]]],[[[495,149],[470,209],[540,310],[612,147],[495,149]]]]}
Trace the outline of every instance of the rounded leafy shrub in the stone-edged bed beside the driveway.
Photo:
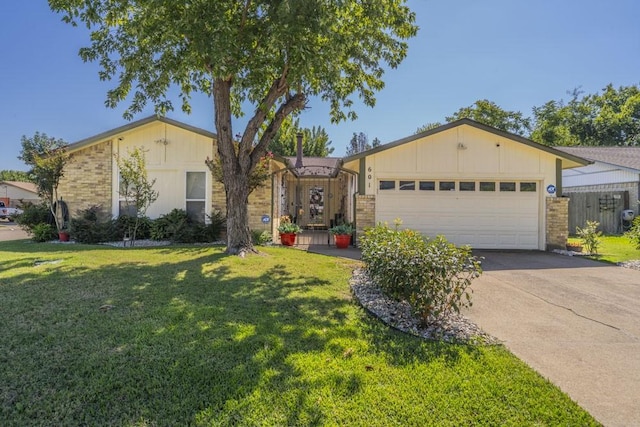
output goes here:
{"type": "Polygon", "coordinates": [[[411,304],[424,325],[438,323],[471,306],[471,281],[482,273],[471,248],[444,237],[429,240],[414,230],[386,224],[360,239],[369,277],[392,298],[411,304]]]}

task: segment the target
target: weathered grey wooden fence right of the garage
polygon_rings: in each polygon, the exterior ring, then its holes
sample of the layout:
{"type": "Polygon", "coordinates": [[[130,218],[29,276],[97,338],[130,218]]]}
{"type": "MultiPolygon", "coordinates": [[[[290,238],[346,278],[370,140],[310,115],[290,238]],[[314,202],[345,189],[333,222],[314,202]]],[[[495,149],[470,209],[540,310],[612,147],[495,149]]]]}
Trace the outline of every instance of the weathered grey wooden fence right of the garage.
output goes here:
{"type": "Polygon", "coordinates": [[[584,227],[589,221],[598,221],[604,234],[623,232],[622,211],[629,209],[628,191],[607,191],[593,193],[568,193],[569,233],[575,234],[576,227],[584,227]]]}

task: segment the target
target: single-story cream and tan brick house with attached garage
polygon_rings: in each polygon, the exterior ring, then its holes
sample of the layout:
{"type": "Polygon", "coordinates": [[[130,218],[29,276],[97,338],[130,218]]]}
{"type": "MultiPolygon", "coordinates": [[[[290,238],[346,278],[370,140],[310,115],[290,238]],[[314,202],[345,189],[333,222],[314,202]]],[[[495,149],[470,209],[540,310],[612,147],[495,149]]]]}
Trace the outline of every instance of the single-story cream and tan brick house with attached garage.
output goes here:
{"type": "MultiPolygon", "coordinates": [[[[127,211],[115,156],[134,147],[146,150],[160,194],[148,216],[174,208],[201,218],[213,209],[225,212],[224,188],[204,163],[217,155],[215,134],[154,116],[69,146],[72,161],[59,192],[72,217],[94,205],[112,216],[127,211]]],[[[462,119],[345,159],[277,158],[272,179],[249,197],[249,222],[275,235],[288,215],[307,229],[348,221],[361,233],[400,218],[405,227],[475,248],[563,247],[562,170],[586,164],[462,119]]]]}

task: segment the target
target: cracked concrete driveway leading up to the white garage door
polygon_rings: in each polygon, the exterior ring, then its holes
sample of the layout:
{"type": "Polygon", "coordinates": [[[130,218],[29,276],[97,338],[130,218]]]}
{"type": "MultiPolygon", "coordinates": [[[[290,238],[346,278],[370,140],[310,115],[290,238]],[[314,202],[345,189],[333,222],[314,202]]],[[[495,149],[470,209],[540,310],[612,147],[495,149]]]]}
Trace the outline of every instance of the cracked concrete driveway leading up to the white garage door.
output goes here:
{"type": "Polygon", "coordinates": [[[478,251],[465,314],[606,426],[640,426],[640,271],[478,251]]]}

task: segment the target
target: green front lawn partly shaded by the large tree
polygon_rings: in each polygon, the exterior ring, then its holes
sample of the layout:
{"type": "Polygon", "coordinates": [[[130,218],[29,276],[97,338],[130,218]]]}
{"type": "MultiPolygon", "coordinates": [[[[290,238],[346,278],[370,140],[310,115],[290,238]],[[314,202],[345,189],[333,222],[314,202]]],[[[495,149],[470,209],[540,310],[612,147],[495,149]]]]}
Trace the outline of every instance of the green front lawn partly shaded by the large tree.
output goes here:
{"type": "Polygon", "coordinates": [[[502,346],[427,342],[287,248],[0,243],[0,419],[24,425],[597,425],[502,346]]]}

